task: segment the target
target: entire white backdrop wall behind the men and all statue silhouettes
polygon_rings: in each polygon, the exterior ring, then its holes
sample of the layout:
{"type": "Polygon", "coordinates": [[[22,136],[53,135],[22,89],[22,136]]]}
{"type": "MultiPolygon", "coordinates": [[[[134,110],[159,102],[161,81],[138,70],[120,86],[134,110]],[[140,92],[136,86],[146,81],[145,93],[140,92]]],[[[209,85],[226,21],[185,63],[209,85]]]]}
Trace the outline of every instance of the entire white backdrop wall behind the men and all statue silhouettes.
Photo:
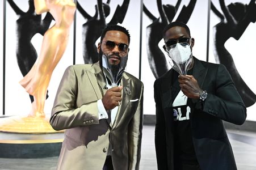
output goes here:
{"type": "MultiPolygon", "coordinates": [[[[4,0],[5,1],[5,0],[4,0]]],[[[23,11],[27,11],[28,9],[28,2],[27,1],[14,1],[23,11]]],[[[86,7],[86,11],[93,16],[95,14],[95,5],[96,0],[91,1],[79,1],[83,7],[86,7]]],[[[106,1],[103,1],[106,2],[106,1]]],[[[144,0],[145,6],[152,12],[152,14],[156,17],[159,17],[156,0],[144,0]]],[[[177,14],[181,11],[183,5],[188,5],[189,0],[183,0],[181,2],[181,6],[179,7],[177,14]]],[[[216,7],[219,7],[219,1],[213,0],[212,1],[216,7]]],[[[231,2],[231,0],[226,0],[226,5],[231,2]]],[[[232,1],[237,2],[237,1],[232,1]]],[[[245,0],[241,0],[241,2],[245,3],[245,0]]],[[[246,2],[249,2],[246,0],[246,2]]],[[[115,11],[117,5],[121,5],[123,1],[116,0],[110,2],[110,15],[106,19],[108,23],[112,18],[112,15],[115,11]]],[[[167,1],[163,0],[163,4],[171,4],[175,5],[177,1],[167,1]]],[[[3,3],[0,4],[0,11],[3,10],[3,3]]],[[[155,114],[155,107],[154,107],[154,97],[153,97],[153,83],[154,83],[154,76],[152,71],[150,70],[148,58],[146,56],[146,46],[145,46],[145,31],[146,27],[151,24],[152,22],[148,19],[145,14],[142,14],[142,20],[140,20],[141,14],[141,2],[136,0],[131,0],[129,2],[129,7],[127,14],[124,18],[124,21],[121,25],[129,29],[131,33],[131,45],[129,46],[129,59],[126,71],[135,75],[139,78],[139,58],[140,58],[140,27],[142,27],[142,46],[141,46],[141,80],[144,82],[144,114],[155,114]],[[142,25],[141,25],[142,24],[142,25]]],[[[45,15],[45,14],[44,14],[45,15]]],[[[43,17],[44,17],[43,15],[43,17]]],[[[208,15],[208,1],[198,0],[196,2],[194,11],[192,12],[190,20],[188,20],[188,27],[191,29],[191,36],[195,39],[195,45],[193,48],[193,54],[195,57],[206,61],[207,56],[207,15],[208,15]]],[[[5,97],[5,114],[7,116],[17,115],[17,114],[28,114],[31,109],[31,102],[30,98],[28,97],[27,92],[20,86],[19,81],[22,79],[22,74],[20,73],[18,63],[16,61],[16,54],[15,54],[15,44],[16,44],[16,20],[19,18],[15,14],[15,12],[10,7],[9,3],[6,3],[6,97],[5,97]]],[[[177,18],[175,16],[174,20],[177,18]]],[[[0,22],[3,23],[3,13],[0,14],[0,22]]],[[[81,38],[81,28],[82,24],[85,23],[86,20],[83,19],[81,14],[77,11],[77,23],[76,23],[76,48],[75,48],[75,63],[83,63],[82,58],[82,38],[81,38]]],[[[210,25],[210,49],[209,49],[209,62],[215,62],[213,57],[213,49],[211,48],[212,44],[212,27],[213,25],[217,24],[219,20],[214,16],[211,12],[211,25],[210,25]]],[[[54,24],[54,21],[52,22],[54,24]]],[[[2,25],[2,24],[1,24],[2,25]]],[[[237,69],[239,70],[242,78],[245,80],[246,84],[251,88],[252,91],[256,92],[256,85],[253,80],[254,72],[253,71],[253,64],[255,62],[255,48],[256,45],[256,33],[255,29],[256,24],[251,23],[249,27],[247,27],[245,33],[242,35],[240,40],[229,39],[225,46],[232,53],[234,61],[236,62],[237,69]],[[249,58],[250,57],[250,58],[249,58]]],[[[0,52],[1,56],[2,53],[2,31],[3,27],[0,28],[0,52]]],[[[58,84],[64,73],[66,67],[73,64],[73,27],[70,30],[70,39],[68,48],[64,53],[60,63],[58,63],[56,69],[53,71],[53,75],[51,78],[51,82],[49,84],[49,97],[45,103],[45,113],[50,114],[51,108],[53,105],[54,97],[56,95],[56,91],[58,88],[58,84]]],[[[39,54],[41,48],[41,42],[43,41],[43,36],[37,34],[32,39],[32,44],[35,46],[37,53],[39,54]]],[[[96,42],[98,44],[98,41],[96,42]]],[[[163,41],[159,43],[160,48],[162,48],[163,41]]],[[[1,57],[2,58],[2,57],[1,57]]],[[[168,59],[168,57],[166,58],[168,59]]],[[[0,61],[0,78],[2,80],[2,59],[0,61]]],[[[2,96],[2,81],[0,83],[0,94],[2,96]]],[[[2,99],[0,99],[0,109],[2,110],[2,99]]],[[[249,108],[247,108],[248,117],[247,120],[256,121],[256,114],[255,114],[255,104],[249,108]]]]}

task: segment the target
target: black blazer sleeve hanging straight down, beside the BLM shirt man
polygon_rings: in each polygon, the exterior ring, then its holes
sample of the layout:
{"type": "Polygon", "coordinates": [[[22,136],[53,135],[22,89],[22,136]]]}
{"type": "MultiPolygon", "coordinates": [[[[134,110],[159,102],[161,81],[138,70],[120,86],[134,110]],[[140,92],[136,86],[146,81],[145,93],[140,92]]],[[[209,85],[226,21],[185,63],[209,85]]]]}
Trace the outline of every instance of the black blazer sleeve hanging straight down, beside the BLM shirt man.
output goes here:
{"type": "Polygon", "coordinates": [[[162,103],[160,98],[159,81],[154,83],[154,100],[156,102],[156,129],[155,129],[155,147],[157,156],[157,168],[167,168],[167,153],[166,153],[166,135],[165,135],[165,118],[163,116],[162,103]]]}

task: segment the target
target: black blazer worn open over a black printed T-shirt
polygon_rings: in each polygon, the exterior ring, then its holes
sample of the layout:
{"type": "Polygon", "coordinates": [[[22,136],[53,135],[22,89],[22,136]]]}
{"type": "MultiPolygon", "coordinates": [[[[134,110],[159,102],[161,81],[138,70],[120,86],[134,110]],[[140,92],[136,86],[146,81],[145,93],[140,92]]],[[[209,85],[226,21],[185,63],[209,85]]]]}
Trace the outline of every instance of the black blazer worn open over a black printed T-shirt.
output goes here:
{"type": "MultiPolygon", "coordinates": [[[[155,145],[158,169],[173,168],[173,112],[169,70],[154,83],[156,101],[155,145]]],[[[192,75],[202,90],[208,93],[204,104],[191,102],[191,133],[196,157],[202,170],[234,170],[236,163],[223,121],[241,125],[246,119],[246,107],[224,65],[200,61],[194,57],[192,75]]]]}

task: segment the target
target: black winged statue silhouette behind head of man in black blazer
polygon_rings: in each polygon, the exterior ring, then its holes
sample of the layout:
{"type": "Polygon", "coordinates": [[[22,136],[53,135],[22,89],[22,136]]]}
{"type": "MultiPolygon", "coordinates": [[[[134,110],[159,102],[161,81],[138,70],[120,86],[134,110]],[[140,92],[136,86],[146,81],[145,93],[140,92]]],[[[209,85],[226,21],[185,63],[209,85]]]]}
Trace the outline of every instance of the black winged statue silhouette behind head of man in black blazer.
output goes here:
{"type": "MultiPolygon", "coordinates": [[[[143,5],[143,11],[146,16],[152,20],[152,24],[146,27],[146,50],[148,53],[149,66],[155,78],[159,78],[169,70],[165,55],[158,44],[162,40],[163,28],[173,21],[181,2],[181,0],[178,0],[176,5],[172,6],[169,4],[162,5],[162,1],[157,0],[157,8],[160,14],[159,18],[156,18],[156,16],[143,5]]],[[[194,10],[195,3],[196,0],[191,0],[187,6],[183,6],[176,21],[186,24],[194,10]]]]}

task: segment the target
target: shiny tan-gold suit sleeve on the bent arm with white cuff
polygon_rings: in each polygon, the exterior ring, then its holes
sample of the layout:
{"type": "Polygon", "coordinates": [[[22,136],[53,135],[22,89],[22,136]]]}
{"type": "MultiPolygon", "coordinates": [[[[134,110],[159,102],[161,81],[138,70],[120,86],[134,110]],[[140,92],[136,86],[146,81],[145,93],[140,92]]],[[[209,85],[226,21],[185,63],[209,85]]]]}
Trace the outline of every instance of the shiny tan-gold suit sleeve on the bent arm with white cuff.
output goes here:
{"type": "Polygon", "coordinates": [[[78,80],[72,66],[61,79],[54,100],[50,124],[54,130],[99,124],[97,101],[77,107],[78,80]]]}

